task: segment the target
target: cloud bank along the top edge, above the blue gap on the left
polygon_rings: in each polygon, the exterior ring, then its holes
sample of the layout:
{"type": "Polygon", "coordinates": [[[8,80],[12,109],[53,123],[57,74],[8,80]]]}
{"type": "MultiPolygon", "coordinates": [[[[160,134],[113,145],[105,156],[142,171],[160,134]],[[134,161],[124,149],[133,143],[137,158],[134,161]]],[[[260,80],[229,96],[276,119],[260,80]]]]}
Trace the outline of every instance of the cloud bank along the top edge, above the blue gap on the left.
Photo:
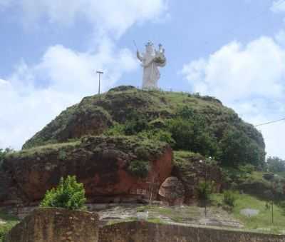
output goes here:
{"type": "Polygon", "coordinates": [[[9,0],[12,1],[23,10],[24,24],[45,18],[52,24],[69,26],[85,19],[103,34],[110,31],[116,36],[135,23],[160,19],[167,10],[167,0],[9,0]]]}

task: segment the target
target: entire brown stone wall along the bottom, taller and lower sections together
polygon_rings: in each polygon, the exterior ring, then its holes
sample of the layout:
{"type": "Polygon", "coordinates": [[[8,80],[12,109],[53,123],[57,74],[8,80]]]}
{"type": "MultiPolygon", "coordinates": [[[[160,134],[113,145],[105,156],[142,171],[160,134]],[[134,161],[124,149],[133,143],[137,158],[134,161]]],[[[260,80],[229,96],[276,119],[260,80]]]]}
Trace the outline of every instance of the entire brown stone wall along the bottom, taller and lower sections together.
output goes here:
{"type": "Polygon", "coordinates": [[[12,228],[5,242],[285,242],[285,236],[135,221],[98,226],[98,215],[44,208],[12,228]]]}

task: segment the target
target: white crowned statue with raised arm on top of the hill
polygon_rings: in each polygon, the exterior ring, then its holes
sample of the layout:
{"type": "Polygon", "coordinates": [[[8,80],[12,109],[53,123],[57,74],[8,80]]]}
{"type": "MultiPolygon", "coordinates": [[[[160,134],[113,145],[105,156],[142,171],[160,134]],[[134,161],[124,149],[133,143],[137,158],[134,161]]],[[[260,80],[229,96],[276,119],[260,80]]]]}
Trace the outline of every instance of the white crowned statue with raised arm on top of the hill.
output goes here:
{"type": "Polygon", "coordinates": [[[158,51],[156,51],[152,42],[148,42],[145,45],[145,53],[141,55],[137,51],[137,57],[143,67],[142,89],[158,89],[157,81],[160,79],[158,66],[166,65],[165,49],[162,48],[162,44],[159,44],[158,51]]]}

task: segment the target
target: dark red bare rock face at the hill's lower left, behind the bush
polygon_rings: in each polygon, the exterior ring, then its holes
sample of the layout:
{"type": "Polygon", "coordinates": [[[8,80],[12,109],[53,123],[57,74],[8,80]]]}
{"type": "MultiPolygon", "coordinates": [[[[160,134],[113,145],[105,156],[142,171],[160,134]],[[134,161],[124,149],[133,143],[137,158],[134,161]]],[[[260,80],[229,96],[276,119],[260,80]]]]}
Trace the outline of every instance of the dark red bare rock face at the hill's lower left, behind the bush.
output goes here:
{"type": "MultiPolygon", "coordinates": [[[[67,175],[76,175],[84,184],[91,203],[147,198],[151,191],[150,182],[160,186],[170,176],[172,149],[163,144],[159,153],[145,157],[149,162],[149,172],[146,178],[139,178],[128,170],[130,161],[142,159],[134,148],[137,146],[138,143],[130,144],[128,138],[118,141],[116,138],[94,137],[78,146],[60,150],[47,148],[29,156],[11,156],[4,162],[4,167],[13,182],[0,197],[0,206],[7,201],[25,205],[38,203],[46,190],[56,186],[59,179],[67,175]],[[15,190],[18,201],[7,199],[15,190]]],[[[153,189],[152,193],[152,196],[157,194],[153,189]]]]}

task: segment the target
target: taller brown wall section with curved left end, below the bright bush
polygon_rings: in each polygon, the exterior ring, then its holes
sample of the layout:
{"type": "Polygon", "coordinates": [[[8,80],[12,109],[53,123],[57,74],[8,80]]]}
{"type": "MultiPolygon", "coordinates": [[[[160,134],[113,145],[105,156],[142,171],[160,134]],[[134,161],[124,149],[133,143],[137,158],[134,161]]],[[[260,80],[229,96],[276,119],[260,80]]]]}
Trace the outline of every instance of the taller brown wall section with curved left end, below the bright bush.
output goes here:
{"type": "Polygon", "coordinates": [[[98,242],[98,229],[95,213],[43,208],[12,228],[5,242],[98,242]]]}

